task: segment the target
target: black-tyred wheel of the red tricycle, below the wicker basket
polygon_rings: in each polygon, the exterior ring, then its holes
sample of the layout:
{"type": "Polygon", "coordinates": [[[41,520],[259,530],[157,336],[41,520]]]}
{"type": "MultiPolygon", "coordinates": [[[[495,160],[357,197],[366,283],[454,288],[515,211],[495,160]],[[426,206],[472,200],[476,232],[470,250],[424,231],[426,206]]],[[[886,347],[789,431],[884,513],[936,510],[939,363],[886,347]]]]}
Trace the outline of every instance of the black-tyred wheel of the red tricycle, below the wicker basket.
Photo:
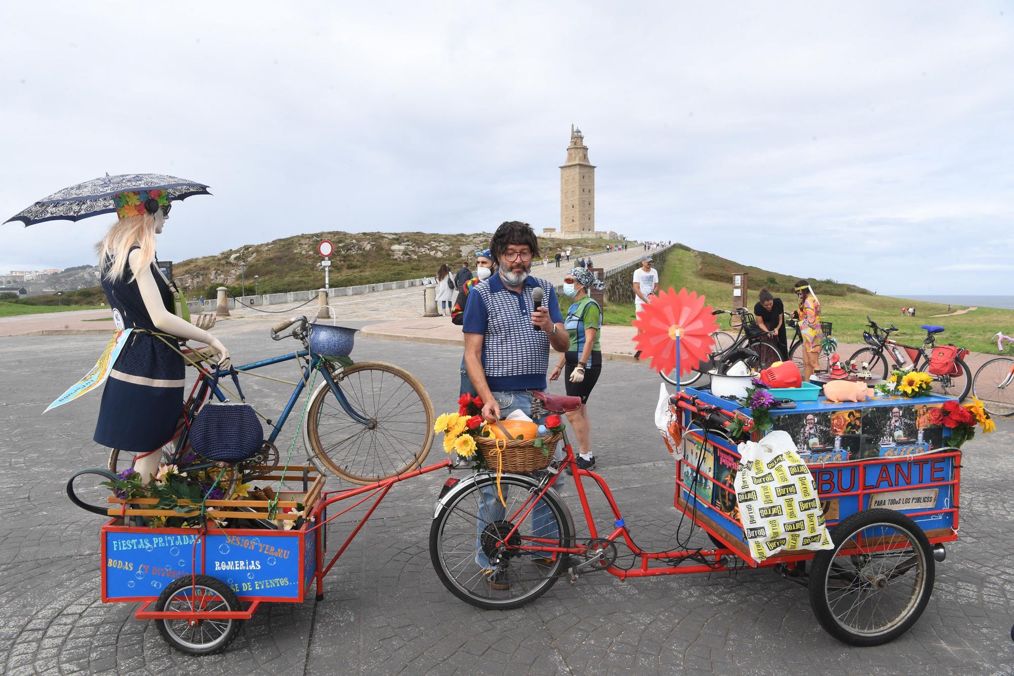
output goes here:
{"type": "Polygon", "coordinates": [[[528,491],[535,485],[526,477],[502,477],[504,508],[496,477],[485,475],[438,508],[430,527],[430,559],[454,596],[486,610],[507,610],[534,601],[557,582],[567,555],[525,550],[536,543],[562,547],[571,542],[567,508],[556,491],[547,491],[523,520],[511,520],[528,512],[528,491]],[[498,546],[515,525],[516,533],[498,546]]]}

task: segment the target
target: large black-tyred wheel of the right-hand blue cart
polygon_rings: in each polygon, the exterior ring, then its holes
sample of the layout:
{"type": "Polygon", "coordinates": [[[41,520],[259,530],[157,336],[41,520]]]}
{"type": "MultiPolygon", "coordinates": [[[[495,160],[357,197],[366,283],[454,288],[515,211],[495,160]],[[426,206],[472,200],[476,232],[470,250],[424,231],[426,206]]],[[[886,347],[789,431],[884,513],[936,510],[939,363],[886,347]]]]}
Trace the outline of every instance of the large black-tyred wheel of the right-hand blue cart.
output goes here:
{"type": "Polygon", "coordinates": [[[908,631],[933,593],[930,541],[891,510],[854,514],[813,557],[810,605],[827,633],[851,646],[879,646],[908,631]]]}

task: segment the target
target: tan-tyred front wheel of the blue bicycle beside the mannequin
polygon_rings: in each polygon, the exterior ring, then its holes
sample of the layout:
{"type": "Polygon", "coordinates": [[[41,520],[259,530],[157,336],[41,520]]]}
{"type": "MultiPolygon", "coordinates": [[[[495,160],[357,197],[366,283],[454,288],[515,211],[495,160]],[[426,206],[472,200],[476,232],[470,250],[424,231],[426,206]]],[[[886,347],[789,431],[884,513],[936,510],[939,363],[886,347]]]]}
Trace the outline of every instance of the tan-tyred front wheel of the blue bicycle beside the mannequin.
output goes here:
{"type": "Polygon", "coordinates": [[[412,374],[382,361],[360,361],[336,369],[332,378],[351,412],[327,382],[313,393],[303,441],[319,469],[366,485],[422,464],[433,444],[433,404],[412,374]]]}

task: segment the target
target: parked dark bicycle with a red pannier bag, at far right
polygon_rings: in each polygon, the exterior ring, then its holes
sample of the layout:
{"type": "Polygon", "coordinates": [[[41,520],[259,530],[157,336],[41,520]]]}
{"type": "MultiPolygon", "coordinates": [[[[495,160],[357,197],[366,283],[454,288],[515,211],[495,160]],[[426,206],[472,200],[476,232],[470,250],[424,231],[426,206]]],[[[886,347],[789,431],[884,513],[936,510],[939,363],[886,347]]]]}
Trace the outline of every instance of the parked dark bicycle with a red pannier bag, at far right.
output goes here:
{"type": "Polygon", "coordinates": [[[877,326],[869,317],[866,321],[873,331],[872,333],[863,331],[863,340],[869,347],[856,350],[851,357],[852,360],[865,361],[869,364],[871,374],[886,379],[889,359],[892,363],[890,370],[915,367],[916,370],[929,373],[933,377],[932,390],[936,394],[956,397],[958,401],[968,396],[968,391],[971,390],[971,376],[962,358],[968,353],[967,350],[954,347],[954,356],[949,369],[944,373],[933,373],[940,369],[932,365],[931,352],[937,347],[936,336],[944,332],[944,327],[924,324],[922,328],[926,331],[926,338],[923,339],[922,345],[916,346],[891,340],[890,334],[898,330],[893,324],[884,328],[877,326]]]}

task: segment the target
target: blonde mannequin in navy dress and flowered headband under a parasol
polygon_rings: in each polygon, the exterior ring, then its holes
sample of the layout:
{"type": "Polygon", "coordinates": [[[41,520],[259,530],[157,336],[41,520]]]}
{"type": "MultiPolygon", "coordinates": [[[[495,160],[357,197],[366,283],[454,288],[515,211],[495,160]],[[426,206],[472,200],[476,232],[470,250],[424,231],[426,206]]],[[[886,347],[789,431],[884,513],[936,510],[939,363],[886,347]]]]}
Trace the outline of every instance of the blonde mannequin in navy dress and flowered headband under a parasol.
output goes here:
{"type": "Polygon", "coordinates": [[[102,289],[118,329],[134,328],[102,392],[95,441],[137,454],[134,469],[143,481],[157,473],[162,444],[172,436],[183,410],[183,357],[155,333],[207,343],[220,367],[229,352],[208,333],[214,316],[191,324],[176,317],[167,280],[154,265],[155,235],[168,217],[164,191],[136,191],[115,197],[119,220],[96,246],[102,289]]]}

